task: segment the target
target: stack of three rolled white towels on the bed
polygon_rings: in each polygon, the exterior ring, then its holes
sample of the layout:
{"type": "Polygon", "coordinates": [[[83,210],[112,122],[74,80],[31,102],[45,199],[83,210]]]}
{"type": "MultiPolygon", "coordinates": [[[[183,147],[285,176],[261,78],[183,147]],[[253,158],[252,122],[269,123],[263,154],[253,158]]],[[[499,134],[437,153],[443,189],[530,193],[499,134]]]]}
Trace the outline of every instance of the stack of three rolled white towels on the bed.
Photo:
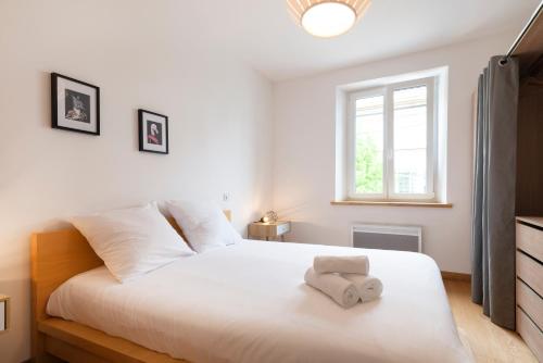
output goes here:
{"type": "Polygon", "coordinates": [[[305,273],[305,283],[343,308],[352,308],[361,300],[375,300],[382,292],[382,283],[369,275],[366,255],[316,256],[313,267],[305,273]]]}

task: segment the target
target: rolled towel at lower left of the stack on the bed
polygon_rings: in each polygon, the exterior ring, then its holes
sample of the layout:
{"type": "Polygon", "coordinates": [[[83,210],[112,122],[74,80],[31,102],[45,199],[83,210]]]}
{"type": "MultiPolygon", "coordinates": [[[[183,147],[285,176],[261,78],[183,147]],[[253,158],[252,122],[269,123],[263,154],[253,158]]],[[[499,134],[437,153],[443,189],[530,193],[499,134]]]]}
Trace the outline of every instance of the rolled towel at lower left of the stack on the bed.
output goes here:
{"type": "Polygon", "coordinates": [[[338,274],[317,274],[314,268],[310,268],[304,279],[343,308],[352,308],[361,299],[354,284],[338,274]]]}

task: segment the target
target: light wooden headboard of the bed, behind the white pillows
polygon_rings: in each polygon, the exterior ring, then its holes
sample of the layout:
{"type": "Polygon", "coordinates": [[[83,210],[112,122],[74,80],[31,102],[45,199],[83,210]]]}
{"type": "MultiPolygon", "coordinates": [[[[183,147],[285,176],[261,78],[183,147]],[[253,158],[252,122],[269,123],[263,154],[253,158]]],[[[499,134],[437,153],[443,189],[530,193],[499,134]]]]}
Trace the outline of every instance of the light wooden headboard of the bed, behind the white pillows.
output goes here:
{"type": "MultiPolygon", "coordinates": [[[[231,221],[231,212],[224,211],[224,213],[228,221],[231,221]]],[[[184,236],[175,220],[173,217],[167,220],[177,233],[184,236]]],[[[39,350],[38,324],[49,317],[46,313],[49,296],[71,277],[101,265],[103,261],[76,228],[33,234],[33,351],[39,350]]]]}

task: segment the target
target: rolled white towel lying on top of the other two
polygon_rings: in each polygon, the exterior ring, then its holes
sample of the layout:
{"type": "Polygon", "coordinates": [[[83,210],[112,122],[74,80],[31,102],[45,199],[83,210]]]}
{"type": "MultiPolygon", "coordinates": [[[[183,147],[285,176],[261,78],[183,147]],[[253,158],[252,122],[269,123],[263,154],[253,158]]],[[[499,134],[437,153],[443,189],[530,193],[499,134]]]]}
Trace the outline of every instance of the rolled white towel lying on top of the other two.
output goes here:
{"type": "Polygon", "coordinates": [[[319,274],[361,274],[369,272],[369,260],[366,255],[317,255],[313,260],[313,268],[319,274]]]}

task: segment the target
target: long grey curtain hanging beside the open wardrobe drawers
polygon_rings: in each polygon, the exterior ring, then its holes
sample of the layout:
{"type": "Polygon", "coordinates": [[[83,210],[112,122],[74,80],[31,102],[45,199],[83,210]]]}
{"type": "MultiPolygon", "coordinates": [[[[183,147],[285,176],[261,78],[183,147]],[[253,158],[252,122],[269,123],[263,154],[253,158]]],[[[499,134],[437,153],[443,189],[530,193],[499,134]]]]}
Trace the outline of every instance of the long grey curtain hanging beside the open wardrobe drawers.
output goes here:
{"type": "Polygon", "coordinates": [[[471,299],[515,329],[515,179],[518,61],[493,57],[479,77],[471,299]]]}

